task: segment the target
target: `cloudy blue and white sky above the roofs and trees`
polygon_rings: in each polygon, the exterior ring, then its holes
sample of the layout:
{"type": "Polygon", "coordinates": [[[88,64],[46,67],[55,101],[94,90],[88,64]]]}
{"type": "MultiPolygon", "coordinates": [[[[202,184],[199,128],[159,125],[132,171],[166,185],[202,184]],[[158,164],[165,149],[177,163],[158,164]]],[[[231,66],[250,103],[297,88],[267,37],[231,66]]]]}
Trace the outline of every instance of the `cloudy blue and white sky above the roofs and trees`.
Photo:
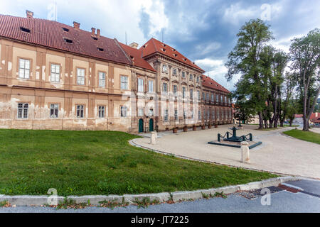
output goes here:
{"type": "Polygon", "coordinates": [[[226,82],[224,64],[237,41],[240,27],[251,18],[261,18],[271,26],[272,44],[288,51],[290,40],[320,27],[319,0],[1,0],[0,13],[55,19],[125,43],[143,45],[149,38],[176,48],[193,60],[206,74],[233,90],[238,80],[226,82]],[[163,35],[162,35],[163,34],[163,35]]]}

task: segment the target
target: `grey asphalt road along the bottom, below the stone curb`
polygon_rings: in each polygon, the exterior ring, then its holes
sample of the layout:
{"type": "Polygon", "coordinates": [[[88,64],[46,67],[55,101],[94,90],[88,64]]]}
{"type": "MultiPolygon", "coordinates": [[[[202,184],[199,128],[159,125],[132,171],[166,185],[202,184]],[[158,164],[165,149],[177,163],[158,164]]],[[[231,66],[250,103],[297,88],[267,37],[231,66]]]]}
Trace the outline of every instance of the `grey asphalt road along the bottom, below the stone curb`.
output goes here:
{"type": "Polygon", "coordinates": [[[285,188],[270,187],[270,197],[256,192],[239,192],[230,194],[226,199],[199,199],[183,201],[176,204],[159,204],[146,209],[137,206],[119,207],[114,209],[88,207],[86,209],[53,209],[50,207],[17,206],[0,208],[4,213],[215,213],[215,212],[316,212],[320,213],[320,181],[302,179],[288,182],[289,192],[285,188]],[[292,190],[293,189],[293,190],[292,190]],[[299,192],[297,192],[297,189],[299,192]],[[265,205],[262,205],[262,201],[265,205]],[[270,201],[270,205],[268,205],[270,201]]]}

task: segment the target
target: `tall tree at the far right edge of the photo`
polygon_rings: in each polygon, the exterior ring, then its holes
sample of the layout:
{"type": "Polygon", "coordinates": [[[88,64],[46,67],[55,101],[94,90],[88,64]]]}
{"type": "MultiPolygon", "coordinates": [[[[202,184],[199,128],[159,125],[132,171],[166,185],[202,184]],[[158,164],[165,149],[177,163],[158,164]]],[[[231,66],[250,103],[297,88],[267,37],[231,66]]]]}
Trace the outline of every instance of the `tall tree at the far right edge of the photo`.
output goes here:
{"type": "Polygon", "coordinates": [[[292,70],[297,74],[299,94],[302,101],[304,131],[309,131],[309,119],[314,111],[320,92],[319,56],[320,31],[310,31],[302,38],[294,38],[290,46],[292,70]]]}

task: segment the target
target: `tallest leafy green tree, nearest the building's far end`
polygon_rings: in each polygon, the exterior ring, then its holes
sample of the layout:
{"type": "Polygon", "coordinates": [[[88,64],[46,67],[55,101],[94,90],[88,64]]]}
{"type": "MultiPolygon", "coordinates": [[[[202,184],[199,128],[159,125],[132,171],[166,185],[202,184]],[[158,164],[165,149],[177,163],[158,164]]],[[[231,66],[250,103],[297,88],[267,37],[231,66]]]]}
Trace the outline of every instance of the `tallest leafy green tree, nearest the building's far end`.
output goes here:
{"type": "Polygon", "coordinates": [[[261,78],[260,57],[262,49],[272,39],[269,28],[270,26],[258,18],[245,23],[237,34],[237,45],[229,53],[228,62],[225,64],[228,68],[225,75],[228,81],[235,75],[241,75],[243,82],[237,84],[237,89],[246,96],[252,109],[259,115],[259,128],[263,128],[262,111],[267,100],[266,88],[261,78]]]}

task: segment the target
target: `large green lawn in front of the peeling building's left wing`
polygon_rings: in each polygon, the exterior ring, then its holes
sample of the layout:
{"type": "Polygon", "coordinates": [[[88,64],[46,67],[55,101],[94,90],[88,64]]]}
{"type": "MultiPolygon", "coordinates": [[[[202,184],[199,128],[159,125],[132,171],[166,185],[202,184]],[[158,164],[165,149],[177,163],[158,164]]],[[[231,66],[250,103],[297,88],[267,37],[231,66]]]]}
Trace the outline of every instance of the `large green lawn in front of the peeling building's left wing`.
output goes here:
{"type": "MultiPolygon", "coordinates": [[[[0,130],[0,194],[140,194],[277,177],[159,155],[111,131],[0,130]]],[[[240,150],[239,150],[240,152],[240,150]]]]}

